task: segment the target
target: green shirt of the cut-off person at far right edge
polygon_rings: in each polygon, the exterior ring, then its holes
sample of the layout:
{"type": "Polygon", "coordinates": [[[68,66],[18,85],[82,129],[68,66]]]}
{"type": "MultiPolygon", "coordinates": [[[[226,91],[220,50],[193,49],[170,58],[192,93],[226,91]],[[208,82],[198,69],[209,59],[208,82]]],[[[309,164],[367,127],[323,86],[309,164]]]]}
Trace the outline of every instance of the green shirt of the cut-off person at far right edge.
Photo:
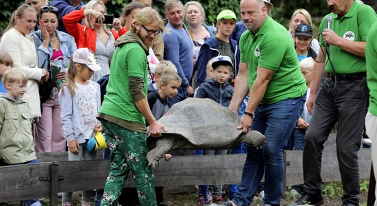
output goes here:
{"type": "Polygon", "coordinates": [[[369,30],[367,49],[367,84],[369,88],[369,112],[377,116],[377,22],[369,30]]]}

